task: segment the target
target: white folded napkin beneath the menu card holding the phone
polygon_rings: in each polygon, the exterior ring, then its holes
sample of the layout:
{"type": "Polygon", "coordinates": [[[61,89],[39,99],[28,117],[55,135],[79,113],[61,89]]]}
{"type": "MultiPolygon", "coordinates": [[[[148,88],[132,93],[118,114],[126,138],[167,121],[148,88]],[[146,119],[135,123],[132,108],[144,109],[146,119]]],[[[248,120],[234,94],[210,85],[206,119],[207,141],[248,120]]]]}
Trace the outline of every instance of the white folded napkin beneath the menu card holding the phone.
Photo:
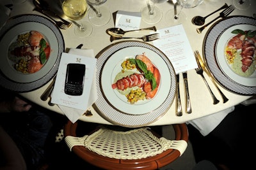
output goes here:
{"type": "MultiPolygon", "coordinates": [[[[92,49],[70,48],[68,53],[72,53],[76,55],[84,55],[86,57],[94,57],[94,53],[92,49]]],[[[95,80],[95,76],[93,76],[92,89],[90,92],[87,109],[90,106],[92,106],[92,104],[96,101],[96,99],[97,99],[96,80],[95,80]]],[[[72,123],[76,122],[86,111],[86,110],[78,110],[75,108],[69,108],[67,106],[61,106],[61,105],[58,105],[58,106],[72,123]]]]}

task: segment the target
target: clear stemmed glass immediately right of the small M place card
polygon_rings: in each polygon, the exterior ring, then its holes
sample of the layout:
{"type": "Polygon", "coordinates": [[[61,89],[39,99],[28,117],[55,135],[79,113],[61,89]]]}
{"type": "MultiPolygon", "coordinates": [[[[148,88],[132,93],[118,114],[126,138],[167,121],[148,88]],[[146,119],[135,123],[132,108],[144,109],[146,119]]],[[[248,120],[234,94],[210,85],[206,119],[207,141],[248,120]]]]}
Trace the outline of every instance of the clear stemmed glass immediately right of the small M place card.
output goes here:
{"type": "Polygon", "coordinates": [[[146,0],[147,6],[141,10],[141,18],[147,24],[156,24],[163,17],[162,11],[157,8],[156,3],[164,3],[168,0],[146,0]]]}

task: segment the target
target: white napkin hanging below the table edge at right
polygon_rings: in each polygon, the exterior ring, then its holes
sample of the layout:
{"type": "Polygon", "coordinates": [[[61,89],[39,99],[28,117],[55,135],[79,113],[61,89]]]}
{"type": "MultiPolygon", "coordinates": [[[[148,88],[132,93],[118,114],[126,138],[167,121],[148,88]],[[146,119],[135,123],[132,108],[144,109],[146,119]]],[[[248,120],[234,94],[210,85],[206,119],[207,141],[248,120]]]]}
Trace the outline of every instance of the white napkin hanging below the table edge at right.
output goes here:
{"type": "Polygon", "coordinates": [[[186,123],[193,125],[193,127],[195,127],[203,136],[206,136],[211,131],[213,131],[215,127],[218,126],[218,124],[220,124],[220,122],[228,115],[228,113],[234,110],[235,106],[232,106],[230,108],[227,108],[226,110],[216,112],[206,117],[196,118],[186,123]]]}

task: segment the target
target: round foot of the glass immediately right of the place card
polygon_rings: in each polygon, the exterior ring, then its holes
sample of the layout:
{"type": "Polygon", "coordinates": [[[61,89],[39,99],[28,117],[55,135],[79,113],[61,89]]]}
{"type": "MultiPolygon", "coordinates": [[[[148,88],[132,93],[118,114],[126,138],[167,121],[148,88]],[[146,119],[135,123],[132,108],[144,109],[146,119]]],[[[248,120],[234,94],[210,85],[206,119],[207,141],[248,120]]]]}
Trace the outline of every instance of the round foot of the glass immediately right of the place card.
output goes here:
{"type": "Polygon", "coordinates": [[[159,10],[159,8],[157,8],[156,6],[154,8],[154,13],[152,15],[150,15],[147,6],[141,10],[141,19],[147,24],[156,24],[161,20],[162,17],[162,11],[159,10]]]}

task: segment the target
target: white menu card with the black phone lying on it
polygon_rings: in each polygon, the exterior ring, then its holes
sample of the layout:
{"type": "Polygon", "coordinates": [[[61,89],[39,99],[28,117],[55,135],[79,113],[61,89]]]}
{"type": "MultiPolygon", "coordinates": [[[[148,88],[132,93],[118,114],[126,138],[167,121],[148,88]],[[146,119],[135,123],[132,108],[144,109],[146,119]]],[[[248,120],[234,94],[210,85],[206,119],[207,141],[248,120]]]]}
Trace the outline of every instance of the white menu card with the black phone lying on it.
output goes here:
{"type": "Polygon", "coordinates": [[[90,91],[92,90],[92,81],[93,76],[95,75],[96,61],[97,59],[93,57],[85,57],[83,55],[75,55],[72,53],[62,53],[60,66],[56,76],[56,82],[52,91],[51,102],[85,111],[88,108],[90,91]],[[83,93],[79,96],[65,94],[65,80],[67,65],[69,63],[85,64],[86,66],[83,93]]]}

